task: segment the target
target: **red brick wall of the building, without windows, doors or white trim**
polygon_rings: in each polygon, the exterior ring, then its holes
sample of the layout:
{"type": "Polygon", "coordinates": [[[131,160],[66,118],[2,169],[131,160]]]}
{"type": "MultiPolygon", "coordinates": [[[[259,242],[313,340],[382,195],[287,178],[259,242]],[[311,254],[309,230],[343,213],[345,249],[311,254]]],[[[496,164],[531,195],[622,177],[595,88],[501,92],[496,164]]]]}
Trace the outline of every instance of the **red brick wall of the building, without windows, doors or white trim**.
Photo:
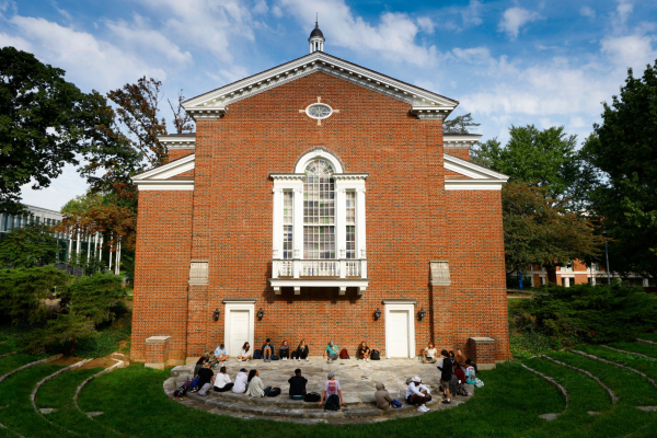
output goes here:
{"type": "MultiPolygon", "coordinates": [[[[192,251],[189,255],[184,250],[172,250],[173,258],[187,269],[185,256],[187,262],[189,257],[209,260],[209,285],[189,287],[188,297],[182,291],[186,275],[176,281],[172,278],[176,286],[171,286],[171,293],[187,299],[187,308],[181,307],[175,316],[176,327],[186,324],[186,331],[175,330],[172,354],[198,356],[223,341],[224,298],[256,299],[256,311],[264,310],[265,318],[255,321],[256,347],[265,337],[272,337],[275,344],[287,339],[292,345],[306,338],[311,355],[319,355],[330,338],[349,350],[366,339],[384,353],[384,318],[374,321],[374,310],[383,311],[381,300],[393,298],[416,299],[416,311],[431,309],[437,291],[428,287],[429,261],[436,258],[450,260],[452,278],[458,278],[440,292],[441,297],[449,295],[445,310],[456,325],[433,318],[416,320],[416,350],[435,336],[454,346],[472,335],[494,333],[494,337],[507,339],[499,333],[503,314],[506,321],[506,301],[499,299],[499,291],[504,291],[502,219],[499,210],[497,217],[494,214],[499,208],[499,193],[482,192],[466,197],[461,192],[461,198],[454,198],[445,192],[441,127],[440,120],[418,120],[410,115],[407,103],[324,73],[313,73],[233,103],[220,120],[198,122],[195,191],[186,200],[193,203],[193,218],[185,207],[188,204],[172,203],[166,193],[159,200],[152,199],[152,210],[140,209],[140,221],[149,223],[170,220],[161,219],[171,211],[158,211],[158,203],[176,204],[176,210],[184,209],[173,215],[191,221],[187,238],[178,239],[188,239],[191,232],[192,251]],[[299,113],[316,102],[316,96],[341,111],[322,120],[322,126],[299,113]],[[364,296],[351,289],[338,296],[335,289],[322,288],[302,288],[300,296],[284,288],[280,296],[275,296],[268,286],[273,209],[273,182],[268,174],[292,172],[299,155],[318,146],[336,153],[346,172],[369,173],[366,204],[371,283],[364,296]],[[453,208],[449,203],[454,201],[461,211],[450,218],[453,208]],[[463,204],[471,201],[472,211],[463,204]],[[493,204],[486,205],[488,201],[493,204]],[[470,212],[481,216],[472,219],[470,212]],[[462,234],[460,239],[468,239],[469,244],[450,244],[454,232],[462,234]],[[487,254],[491,245],[494,255],[487,254]],[[476,262],[468,262],[471,260],[476,262]],[[475,266],[482,269],[479,277],[470,272],[475,266]],[[475,286],[482,277],[486,277],[483,286],[475,286]],[[480,293],[481,300],[476,300],[480,293]],[[462,314],[465,309],[457,297],[475,302],[468,315],[462,314]],[[221,310],[218,322],[211,318],[216,308],[221,310]],[[186,344],[181,337],[186,338],[186,344]]],[[[141,203],[140,197],[140,208],[141,203]]],[[[148,238],[139,235],[142,244],[138,251],[147,247],[147,241],[152,243],[155,234],[153,231],[148,238]]],[[[149,263],[143,255],[138,257],[138,276],[157,277],[146,273],[149,263]]],[[[159,299],[170,300],[164,293],[154,292],[154,284],[141,284],[141,288],[136,285],[136,297],[142,293],[145,298],[135,318],[140,333],[146,333],[145,325],[149,323],[142,312],[148,311],[147,301],[150,299],[155,306],[159,299]]],[[[498,356],[506,358],[508,342],[503,345],[498,356]]]]}

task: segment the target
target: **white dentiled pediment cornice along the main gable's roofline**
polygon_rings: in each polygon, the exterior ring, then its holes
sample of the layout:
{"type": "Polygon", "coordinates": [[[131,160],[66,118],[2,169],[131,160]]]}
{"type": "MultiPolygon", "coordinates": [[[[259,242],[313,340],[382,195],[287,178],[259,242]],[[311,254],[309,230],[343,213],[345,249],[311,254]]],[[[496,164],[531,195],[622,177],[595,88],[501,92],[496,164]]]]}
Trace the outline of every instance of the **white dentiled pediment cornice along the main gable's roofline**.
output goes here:
{"type": "Polygon", "coordinates": [[[449,115],[459,104],[458,101],[452,99],[366,69],[324,51],[313,51],[293,61],[193,97],[184,102],[183,107],[198,118],[217,117],[223,114],[231,103],[263,93],[314,72],[331,74],[392,99],[406,102],[411,106],[419,108],[422,113],[442,113],[441,117],[449,115]]]}

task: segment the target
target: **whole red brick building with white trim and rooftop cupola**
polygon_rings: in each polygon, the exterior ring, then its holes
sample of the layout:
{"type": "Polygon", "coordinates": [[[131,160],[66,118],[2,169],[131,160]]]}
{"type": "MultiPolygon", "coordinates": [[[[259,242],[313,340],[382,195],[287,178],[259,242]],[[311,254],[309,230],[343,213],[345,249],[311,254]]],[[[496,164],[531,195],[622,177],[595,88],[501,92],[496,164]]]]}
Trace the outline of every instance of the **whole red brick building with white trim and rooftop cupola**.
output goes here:
{"type": "Polygon", "coordinates": [[[480,136],[443,135],[457,101],[325,54],[319,30],[309,42],[185,102],[196,132],[162,137],[170,162],[134,177],[132,358],[270,337],[311,356],[434,341],[507,359],[507,177],[469,161],[480,136]]]}

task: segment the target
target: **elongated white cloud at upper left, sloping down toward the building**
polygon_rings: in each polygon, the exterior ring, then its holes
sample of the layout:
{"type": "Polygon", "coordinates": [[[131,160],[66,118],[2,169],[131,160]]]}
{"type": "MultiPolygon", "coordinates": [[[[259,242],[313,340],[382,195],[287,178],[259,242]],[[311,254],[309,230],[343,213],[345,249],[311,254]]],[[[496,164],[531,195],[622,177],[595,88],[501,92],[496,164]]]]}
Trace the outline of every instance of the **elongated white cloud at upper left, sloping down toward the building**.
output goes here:
{"type": "Polygon", "coordinates": [[[14,15],[9,20],[33,53],[42,60],[61,67],[77,83],[105,89],[123,85],[140,76],[164,80],[166,73],[118,47],[96,39],[92,34],[64,27],[44,19],[14,15]]]}

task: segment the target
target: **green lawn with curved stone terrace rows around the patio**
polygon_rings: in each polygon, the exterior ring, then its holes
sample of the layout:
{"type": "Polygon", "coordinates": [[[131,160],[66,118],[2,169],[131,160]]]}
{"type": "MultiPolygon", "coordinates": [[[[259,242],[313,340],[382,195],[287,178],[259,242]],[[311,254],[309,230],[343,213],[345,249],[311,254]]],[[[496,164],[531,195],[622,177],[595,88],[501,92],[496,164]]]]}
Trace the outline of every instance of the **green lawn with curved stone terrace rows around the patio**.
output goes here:
{"type": "MultiPolygon", "coordinates": [[[[580,346],[579,349],[610,360],[619,360],[656,373],[647,361],[602,347],[580,346]]],[[[57,408],[46,418],[37,414],[30,393],[43,377],[61,367],[41,365],[18,372],[0,383],[0,424],[24,437],[655,437],[657,413],[636,406],[657,405],[657,389],[639,376],[611,365],[601,364],[566,351],[552,353],[557,360],[589,370],[619,396],[614,405],[606,391],[592,379],[575,370],[542,358],[523,362],[556,379],[569,394],[565,410],[561,393],[549,382],[526,370],[519,362],[505,362],[479,377],[485,387],[476,389],[468,403],[447,411],[364,425],[298,425],[274,420],[242,420],[193,410],[169,400],[162,383],[170,372],[141,365],[119,369],[91,381],[81,392],[79,405],[83,412],[100,411],[88,418],[72,402],[77,387],[97,370],[64,372],[46,382],[37,393],[38,407],[57,408]],[[564,412],[565,410],[565,412],[564,412]],[[591,416],[589,411],[601,415],[591,416]],[[539,415],[563,413],[553,422],[539,415]],[[53,424],[50,424],[49,422],[53,424]],[[123,435],[116,434],[120,433],[123,435]],[[72,431],[72,433],[70,433],[72,431]]],[[[34,360],[16,355],[0,359],[0,369],[11,369],[34,360]],[[16,360],[18,359],[18,360],[16,360]]],[[[656,361],[657,362],[657,361],[656,361]]],[[[14,436],[0,429],[0,438],[14,436]]]]}

